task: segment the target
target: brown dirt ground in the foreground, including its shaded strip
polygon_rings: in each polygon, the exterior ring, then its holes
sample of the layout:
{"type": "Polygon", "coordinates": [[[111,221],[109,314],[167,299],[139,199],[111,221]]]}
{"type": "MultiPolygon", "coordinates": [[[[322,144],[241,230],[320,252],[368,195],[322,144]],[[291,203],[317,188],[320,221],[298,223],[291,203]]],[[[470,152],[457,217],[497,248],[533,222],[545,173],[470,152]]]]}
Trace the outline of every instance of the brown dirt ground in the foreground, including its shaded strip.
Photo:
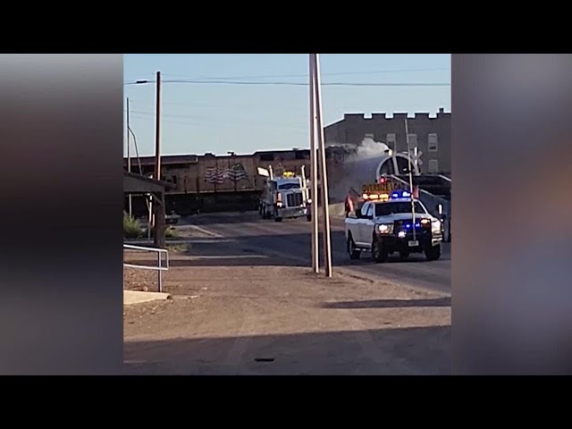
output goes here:
{"type": "Polygon", "coordinates": [[[172,299],[124,307],[126,374],[450,374],[448,295],[225,248],[173,253],[172,299]]]}

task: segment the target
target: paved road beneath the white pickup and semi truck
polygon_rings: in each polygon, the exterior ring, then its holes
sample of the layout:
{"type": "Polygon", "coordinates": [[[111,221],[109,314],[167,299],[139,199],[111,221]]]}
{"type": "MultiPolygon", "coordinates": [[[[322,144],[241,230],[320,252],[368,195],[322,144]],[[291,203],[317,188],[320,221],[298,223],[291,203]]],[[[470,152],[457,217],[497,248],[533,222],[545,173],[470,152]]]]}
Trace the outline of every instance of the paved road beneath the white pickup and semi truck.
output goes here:
{"type": "MultiPolygon", "coordinates": [[[[261,220],[257,213],[201,214],[181,220],[181,228],[184,229],[187,223],[231,239],[244,248],[281,254],[299,261],[300,265],[309,265],[311,223],[305,218],[274,223],[261,220]]],[[[443,245],[439,261],[426,261],[425,255],[421,254],[412,255],[407,261],[390,257],[385,264],[374,264],[368,254],[358,261],[349,260],[345,250],[343,219],[332,217],[331,231],[332,262],[343,272],[450,293],[450,244],[443,245]]]]}

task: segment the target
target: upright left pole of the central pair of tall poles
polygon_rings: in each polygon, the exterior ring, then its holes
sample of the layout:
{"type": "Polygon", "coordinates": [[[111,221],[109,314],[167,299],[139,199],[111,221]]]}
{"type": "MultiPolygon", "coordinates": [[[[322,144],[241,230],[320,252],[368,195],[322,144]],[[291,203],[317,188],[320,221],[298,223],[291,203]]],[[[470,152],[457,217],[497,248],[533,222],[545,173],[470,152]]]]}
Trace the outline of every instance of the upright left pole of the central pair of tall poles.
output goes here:
{"type": "Polygon", "coordinates": [[[312,203],[310,204],[312,217],[312,271],[320,272],[320,257],[318,253],[318,162],[315,147],[315,73],[312,55],[309,58],[310,64],[310,183],[312,203]]]}

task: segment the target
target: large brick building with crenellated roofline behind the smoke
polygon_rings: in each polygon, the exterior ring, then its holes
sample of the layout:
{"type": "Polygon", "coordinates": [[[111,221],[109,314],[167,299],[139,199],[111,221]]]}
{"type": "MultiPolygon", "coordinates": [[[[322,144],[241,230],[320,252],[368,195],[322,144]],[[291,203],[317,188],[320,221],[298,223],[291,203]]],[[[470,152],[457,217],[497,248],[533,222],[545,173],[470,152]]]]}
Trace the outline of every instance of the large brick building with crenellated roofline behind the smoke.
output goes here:
{"type": "Polygon", "coordinates": [[[385,143],[396,152],[407,152],[405,118],[408,118],[409,145],[420,153],[419,169],[424,173],[451,172],[450,113],[444,109],[430,114],[345,114],[324,129],[328,147],[359,147],[366,137],[385,143]]]}

